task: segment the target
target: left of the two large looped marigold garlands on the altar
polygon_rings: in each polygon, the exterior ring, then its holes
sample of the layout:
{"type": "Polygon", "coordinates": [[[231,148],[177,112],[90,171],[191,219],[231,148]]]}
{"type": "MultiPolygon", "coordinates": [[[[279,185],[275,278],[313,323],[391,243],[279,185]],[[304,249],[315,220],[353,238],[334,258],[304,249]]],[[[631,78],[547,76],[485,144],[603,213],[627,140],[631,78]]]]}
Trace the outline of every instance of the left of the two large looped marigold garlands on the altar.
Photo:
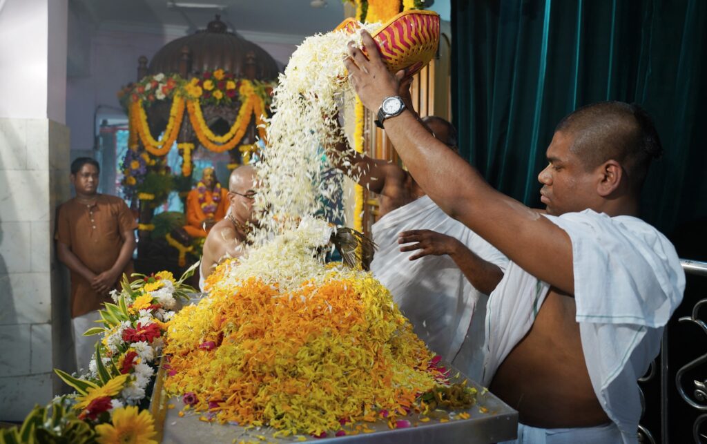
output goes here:
{"type": "Polygon", "coordinates": [[[142,106],[142,101],[132,103],[130,107],[130,116],[132,127],[137,128],[137,134],[145,149],[153,154],[153,156],[164,156],[172,149],[173,144],[177,140],[180,129],[182,127],[182,119],[184,118],[185,100],[180,95],[175,95],[172,99],[172,107],[170,107],[170,117],[167,122],[167,127],[160,140],[154,139],[150,132],[150,127],[147,123],[147,113],[142,106]]]}

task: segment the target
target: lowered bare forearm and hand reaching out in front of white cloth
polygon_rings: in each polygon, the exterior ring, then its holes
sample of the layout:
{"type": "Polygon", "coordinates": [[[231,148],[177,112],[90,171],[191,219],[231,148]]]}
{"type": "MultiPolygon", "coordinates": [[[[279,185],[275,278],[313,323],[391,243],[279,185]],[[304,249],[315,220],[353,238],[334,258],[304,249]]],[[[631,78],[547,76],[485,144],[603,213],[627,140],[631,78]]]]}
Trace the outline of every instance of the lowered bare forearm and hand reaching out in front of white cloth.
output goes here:
{"type": "Polygon", "coordinates": [[[501,282],[503,271],[496,264],[481,259],[456,238],[432,230],[409,230],[398,235],[400,251],[416,251],[409,259],[414,261],[428,255],[449,255],[467,280],[484,294],[491,294],[501,282]],[[403,245],[409,244],[409,245],[403,245]]]}

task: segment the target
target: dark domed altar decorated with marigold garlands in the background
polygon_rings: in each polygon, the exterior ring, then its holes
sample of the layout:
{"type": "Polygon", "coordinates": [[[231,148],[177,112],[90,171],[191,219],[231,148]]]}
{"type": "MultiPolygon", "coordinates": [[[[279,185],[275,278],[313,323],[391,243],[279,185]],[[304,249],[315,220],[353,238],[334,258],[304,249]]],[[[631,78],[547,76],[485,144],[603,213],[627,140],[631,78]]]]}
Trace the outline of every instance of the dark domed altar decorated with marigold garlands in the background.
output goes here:
{"type": "Polygon", "coordinates": [[[140,57],[137,71],[139,80],[118,94],[129,117],[121,185],[139,215],[136,269],[176,273],[199,259],[206,232],[223,218],[219,201],[230,170],[249,163],[264,142],[279,70],[264,49],[227,32],[217,16],[206,30],[165,45],[149,63],[140,57]],[[170,151],[181,158],[176,170],[166,161],[170,151]],[[202,168],[194,170],[195,158],[202,168]],[[206,189],[209,168],[216,182],[206,189]],[[198,202],[189,205],[190,191],[198,202]],[[184,215],[156,214],[175,192],[184,215]],[[201,220],[189,220],[189,209],[201,220]]]}

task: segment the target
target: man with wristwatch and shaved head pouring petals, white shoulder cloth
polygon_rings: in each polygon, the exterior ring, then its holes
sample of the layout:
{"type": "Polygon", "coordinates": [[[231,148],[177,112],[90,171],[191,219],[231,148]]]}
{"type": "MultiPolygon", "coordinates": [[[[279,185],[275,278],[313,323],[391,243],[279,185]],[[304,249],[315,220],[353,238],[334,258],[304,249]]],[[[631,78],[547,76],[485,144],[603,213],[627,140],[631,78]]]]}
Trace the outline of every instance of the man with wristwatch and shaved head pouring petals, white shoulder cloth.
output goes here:
{"type": "MultiPolygon", "coordinates": [[[[350,46],[344,63],[377,112],[404,73],[391,76],[362,38],[368,57],[350,46]]],[[[421,189],[512,261],[489,298],[484,382],[518,410],[518,442],[638,443],[637,380],[685,284],[674,247],[638,218],[662,153],[647,113],[596,103],[558,124],[538,176],[550,218],[491,188],[404,107],[382,118],[421,189]]]]}

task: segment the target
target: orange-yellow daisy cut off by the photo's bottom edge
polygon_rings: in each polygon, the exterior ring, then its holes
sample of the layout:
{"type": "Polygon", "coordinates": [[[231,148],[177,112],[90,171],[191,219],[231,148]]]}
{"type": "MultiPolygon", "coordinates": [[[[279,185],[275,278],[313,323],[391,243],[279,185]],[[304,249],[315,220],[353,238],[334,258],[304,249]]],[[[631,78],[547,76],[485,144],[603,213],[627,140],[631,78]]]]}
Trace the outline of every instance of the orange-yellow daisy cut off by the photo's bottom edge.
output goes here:
{"type": "Polygon", "coordinates": [[[138,412],[134,406],[116,409],[112,423],[99,424],[95,431],[99,444],[157,444],[155,420],[147,410],[138,412]]]}

